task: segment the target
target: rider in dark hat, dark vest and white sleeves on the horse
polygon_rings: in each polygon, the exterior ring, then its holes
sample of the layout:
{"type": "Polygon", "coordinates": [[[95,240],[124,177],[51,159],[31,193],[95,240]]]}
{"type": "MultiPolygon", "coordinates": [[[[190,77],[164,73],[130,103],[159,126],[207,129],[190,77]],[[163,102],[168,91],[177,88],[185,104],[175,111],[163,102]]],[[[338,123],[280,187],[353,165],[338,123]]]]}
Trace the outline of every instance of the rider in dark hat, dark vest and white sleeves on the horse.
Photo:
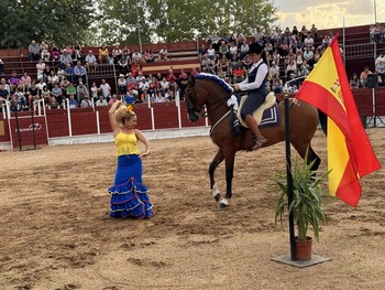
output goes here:
{"type": "Polygon", "coordinates": [[[253,65],[249,71],[246,79],[234,85],[234,92],[241,90],[249,94],[241,108],[241,118],[254,135],[254,147],[252,150],[255,150],[267,142],[267,139],[262,136],[252,115],[265,101],[267,95],[266,78],[268,68],[265,52],[260,43],[252,43],[248,54],[250,54],[253,65]]]}

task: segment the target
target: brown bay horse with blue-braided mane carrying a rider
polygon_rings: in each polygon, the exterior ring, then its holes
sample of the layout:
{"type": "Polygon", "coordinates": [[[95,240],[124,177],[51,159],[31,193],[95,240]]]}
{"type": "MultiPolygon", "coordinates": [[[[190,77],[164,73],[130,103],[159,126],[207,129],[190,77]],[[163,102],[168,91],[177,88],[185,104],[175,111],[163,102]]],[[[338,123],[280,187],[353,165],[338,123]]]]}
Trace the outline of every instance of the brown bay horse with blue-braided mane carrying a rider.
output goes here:
{"type": "MultiPolygon", "coordinates": [[[[187,118],[196,122],[201,117],[208,117],[211,129],[211,141],[218,147],[218,152],[209,165],[210,190],[220,208],[228,207],[232,196],[232,179],[234,159],[238,151],[250,151],[254,146],[254,136],[243,128],[239,136],[232,136],[231,109],[228,100],[232,95],[232,88],[218,78],[207,74],[190,75],[186,90],[185,101],[187,118]],[[198,77],[200,76],[200,77],[198,77]],[[202,108],[206,106],[206,111],[202,108]],[[226,196],[221,200],[220,190],[215,180],[218,165],[226,160],[226,196]]],[[[290,143],[298,154],[305,159],[308,150],[307,162],[314,162],[311,170],[317,170],[321,159],[312,150],[310,141],[319,123],[318,109],[301,100],[289,99],[289,136],[290,143]]],[[[278,103],[280,115],[279,123],[275,127],[261,127],[262,135],[268,139],[262,148],[273,146],[285,140],[285,106],[278,103]]]]}

